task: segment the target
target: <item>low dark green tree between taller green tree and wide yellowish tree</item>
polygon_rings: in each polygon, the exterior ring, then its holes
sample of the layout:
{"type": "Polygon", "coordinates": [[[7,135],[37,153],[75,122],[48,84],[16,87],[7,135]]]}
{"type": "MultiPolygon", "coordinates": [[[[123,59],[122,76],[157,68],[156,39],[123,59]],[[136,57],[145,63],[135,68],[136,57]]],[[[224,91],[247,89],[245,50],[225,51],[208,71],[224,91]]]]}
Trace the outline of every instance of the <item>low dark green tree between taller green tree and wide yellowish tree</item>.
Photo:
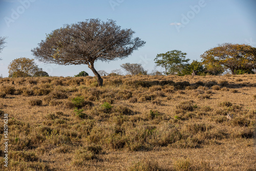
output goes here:
{"type": "Polygon", "coordinates": [[[203,75],[205,73],[205,68],[202,62],[193,60],[181,71],[180,75],[191,75],[194,71],[197,71],[197,75],[203,75]]]}

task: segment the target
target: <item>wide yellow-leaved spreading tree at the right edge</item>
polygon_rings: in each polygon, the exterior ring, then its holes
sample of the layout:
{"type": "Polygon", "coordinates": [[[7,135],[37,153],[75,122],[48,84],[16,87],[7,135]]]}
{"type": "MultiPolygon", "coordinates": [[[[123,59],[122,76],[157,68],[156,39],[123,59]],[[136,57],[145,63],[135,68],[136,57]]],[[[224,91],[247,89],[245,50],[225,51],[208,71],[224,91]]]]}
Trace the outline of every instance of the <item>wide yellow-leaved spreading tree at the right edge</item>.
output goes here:
{"type": "Polygon", "coordinates": [[[212,48],[201,55],[204,65],[222,66],[231,73],[237,74],[238,70],[254,69],[256,67],[256,48],[249,45],[225,43],[212,48]]]}

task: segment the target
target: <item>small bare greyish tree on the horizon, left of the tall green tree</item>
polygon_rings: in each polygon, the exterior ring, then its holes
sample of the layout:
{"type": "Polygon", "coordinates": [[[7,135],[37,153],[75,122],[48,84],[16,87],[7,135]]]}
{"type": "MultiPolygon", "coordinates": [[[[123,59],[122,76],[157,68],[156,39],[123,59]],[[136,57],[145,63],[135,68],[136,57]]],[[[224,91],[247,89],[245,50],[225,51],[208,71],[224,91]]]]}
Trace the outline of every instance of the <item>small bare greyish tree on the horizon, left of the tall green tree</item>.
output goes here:
{"type": "Polygon", "coordinates": [[[147,71],[143,69],[140,63],[123,63],[121,68],[130,75],[147,75],[147,71]]]}

